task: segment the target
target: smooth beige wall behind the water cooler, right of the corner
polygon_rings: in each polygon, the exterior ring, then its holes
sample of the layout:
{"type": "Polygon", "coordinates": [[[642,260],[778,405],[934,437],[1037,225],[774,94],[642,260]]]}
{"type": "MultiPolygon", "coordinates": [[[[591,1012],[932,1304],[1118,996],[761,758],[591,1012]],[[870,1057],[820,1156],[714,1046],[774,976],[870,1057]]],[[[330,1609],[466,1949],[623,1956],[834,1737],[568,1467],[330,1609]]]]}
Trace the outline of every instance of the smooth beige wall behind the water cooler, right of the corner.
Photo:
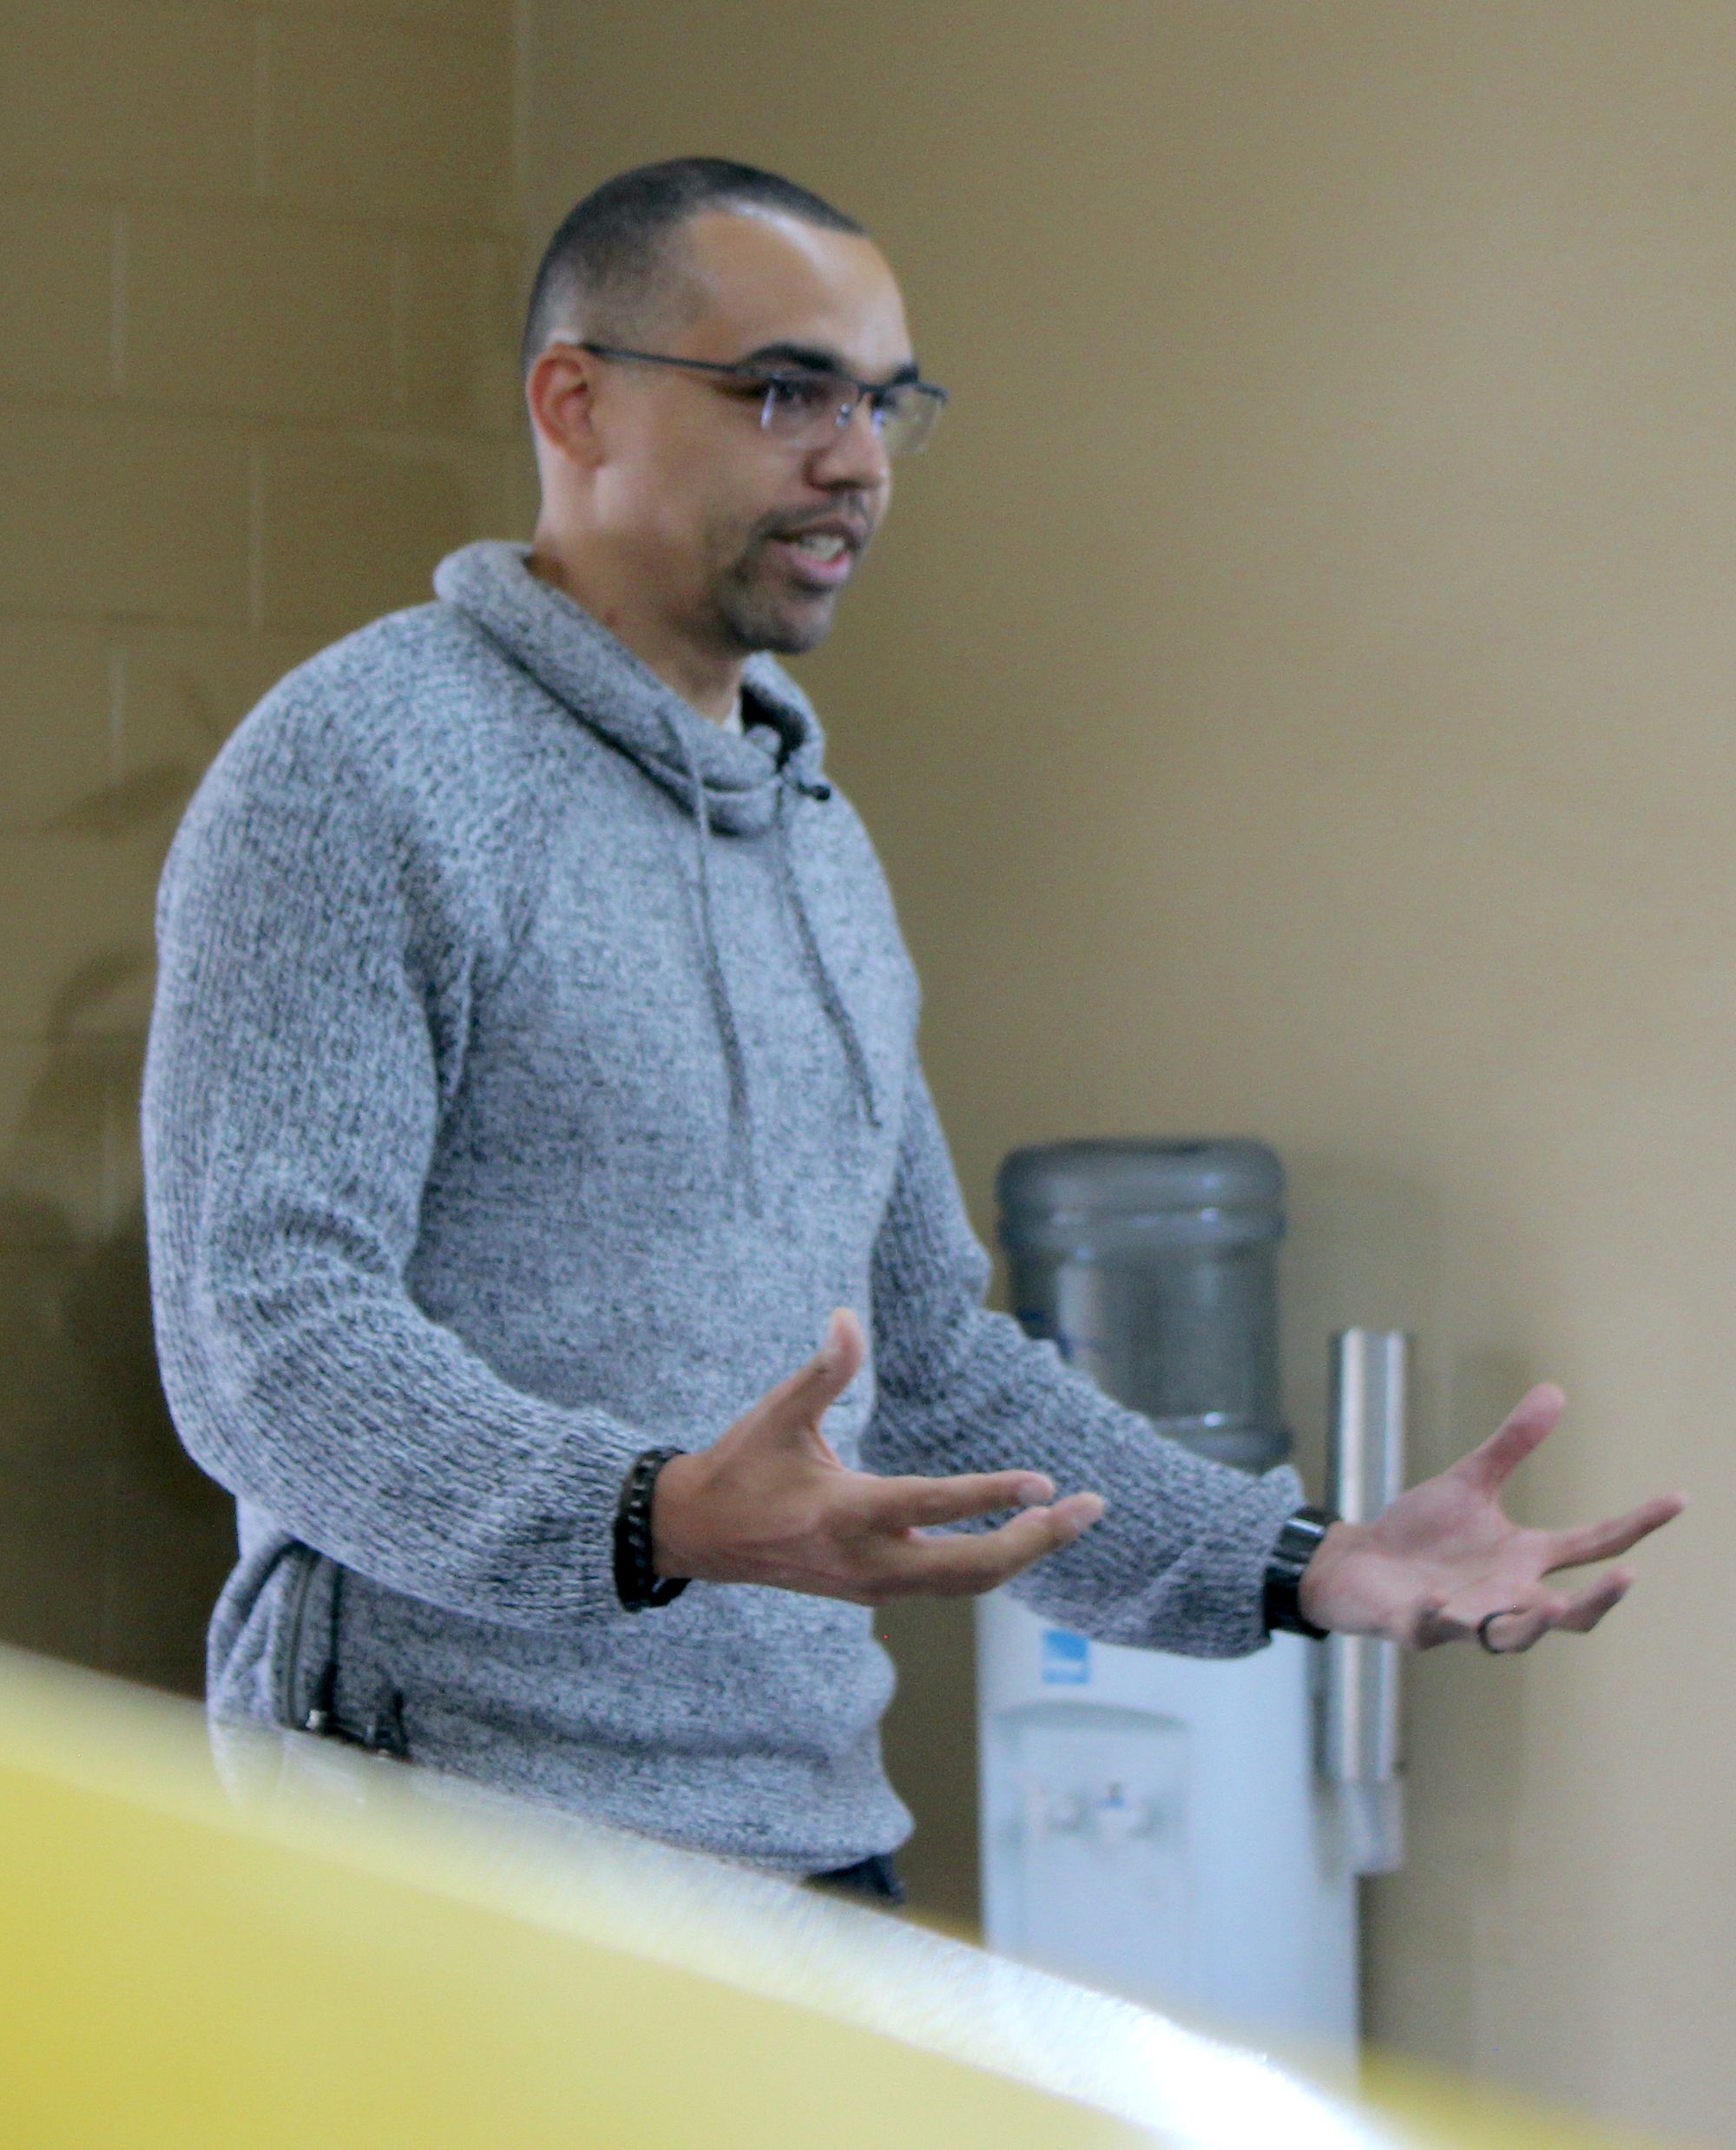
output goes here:
{"type": "MultiPolygon", "coordinates": [[[[1684,1484],[1596,1643],[1411,1675],[1368,2012],[1736,2141],[1736,13],[1723,0],[533,0],[531,219],[688,148],[863,215],[955,389],[809,664],[996,1159],[1252,1131],[1289,1382],[1420,1337],[1420,1468],[1684,1484]]],[[[899,1623],[931,1905],[964,1623],[899,1623]]]]}

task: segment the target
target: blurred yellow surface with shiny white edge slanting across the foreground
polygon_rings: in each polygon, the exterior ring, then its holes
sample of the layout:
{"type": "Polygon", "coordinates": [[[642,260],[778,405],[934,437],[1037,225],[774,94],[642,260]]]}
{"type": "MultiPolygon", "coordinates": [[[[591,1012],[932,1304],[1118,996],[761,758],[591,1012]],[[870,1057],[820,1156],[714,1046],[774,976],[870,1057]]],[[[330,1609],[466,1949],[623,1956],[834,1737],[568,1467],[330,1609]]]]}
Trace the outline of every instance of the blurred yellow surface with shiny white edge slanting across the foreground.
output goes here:
{"type": "Polygon", "coordinates": [[[0,1651],[6,2150],[1616,2150],[1392,2066],[1392,2118],[1357,2116],[897,1920],[323,1742],[224,1778],[189,1705],[0,1651]]]}

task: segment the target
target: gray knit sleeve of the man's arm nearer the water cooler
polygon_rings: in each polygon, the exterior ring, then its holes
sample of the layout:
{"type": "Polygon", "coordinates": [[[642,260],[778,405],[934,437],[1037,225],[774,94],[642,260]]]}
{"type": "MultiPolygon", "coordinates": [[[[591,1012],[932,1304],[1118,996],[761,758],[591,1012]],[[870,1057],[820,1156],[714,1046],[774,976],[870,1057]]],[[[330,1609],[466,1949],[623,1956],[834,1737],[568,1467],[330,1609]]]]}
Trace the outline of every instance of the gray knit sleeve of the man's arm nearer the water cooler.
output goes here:
{"type": "Polygon", "coordinates": [[[1261,1585],[1293,1471],[1248,1477],[1159,1436],[1005,1314],[983,1307],[990,1262],[970,1232],[940,1120],[912,1069],[899,1170],[873,1253],[873,1471],[1045,1471],[1101,1492],[1095,1529],[1013,1585],[1093,1634],[1198,1658],[1265,1640],[1261,1585]]]}

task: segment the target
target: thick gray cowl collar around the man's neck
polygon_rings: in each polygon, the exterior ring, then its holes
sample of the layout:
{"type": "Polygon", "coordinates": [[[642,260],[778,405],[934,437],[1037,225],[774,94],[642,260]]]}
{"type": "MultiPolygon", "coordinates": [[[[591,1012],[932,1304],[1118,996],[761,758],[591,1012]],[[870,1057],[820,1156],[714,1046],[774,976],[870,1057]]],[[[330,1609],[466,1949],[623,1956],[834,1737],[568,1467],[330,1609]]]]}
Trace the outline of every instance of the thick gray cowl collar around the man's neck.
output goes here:
{"type": "Polygon", "coordinates": [[[826,735],[774,658],[749,658],[755,722],[736,733],[699,716],[566,591],[531,574],[529,546],[467,544],[435,570],[435,593],[712,830],[762,836],[787,787],[824,796],[826,735]]]}

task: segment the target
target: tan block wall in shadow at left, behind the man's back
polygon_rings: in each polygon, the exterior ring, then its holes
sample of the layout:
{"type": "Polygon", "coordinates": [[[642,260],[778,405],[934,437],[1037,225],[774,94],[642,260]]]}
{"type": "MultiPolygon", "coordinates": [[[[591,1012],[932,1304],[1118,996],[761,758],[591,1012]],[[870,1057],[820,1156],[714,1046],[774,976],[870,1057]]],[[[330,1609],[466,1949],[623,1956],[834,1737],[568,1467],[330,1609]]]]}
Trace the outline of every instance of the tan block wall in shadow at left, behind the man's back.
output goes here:
{"type": "Polygon", "coordinates": [[[0,1636],[170,1686],[230,1552],[142,1251],[151,901],[282,671],[523,525],[510,0],[0,9],[0,1636]]]}

